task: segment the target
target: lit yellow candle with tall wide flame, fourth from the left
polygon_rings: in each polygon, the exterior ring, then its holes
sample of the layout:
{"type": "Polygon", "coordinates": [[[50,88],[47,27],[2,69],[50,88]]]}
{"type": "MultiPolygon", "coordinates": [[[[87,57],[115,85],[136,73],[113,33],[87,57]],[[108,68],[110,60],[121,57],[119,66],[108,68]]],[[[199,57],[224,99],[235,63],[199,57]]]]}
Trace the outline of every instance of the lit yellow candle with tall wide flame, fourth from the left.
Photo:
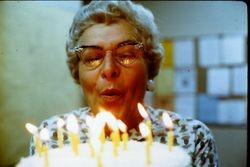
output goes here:
{"type": "Polygon", "coordinates": [[[68,116],[66,128],[69,131],[69,138],[72,144],[72,150],[77,155],[79,153],[78,145],[80,143],[80,139],[78,135],[79,127],[78,127],[77,119],[73,114],[68,116]]]}

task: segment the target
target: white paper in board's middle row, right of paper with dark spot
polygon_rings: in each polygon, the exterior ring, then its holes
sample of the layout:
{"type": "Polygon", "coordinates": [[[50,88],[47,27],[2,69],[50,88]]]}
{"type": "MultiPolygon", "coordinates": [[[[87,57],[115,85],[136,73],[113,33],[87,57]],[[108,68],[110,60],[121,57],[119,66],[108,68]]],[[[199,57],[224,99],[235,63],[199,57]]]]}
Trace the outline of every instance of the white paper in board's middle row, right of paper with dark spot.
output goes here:
{"type": "Polygon", "coordinates": [[[227,67],[208,69],[207,93],[227,96],[230,93],[230,70],[227,67]]]}

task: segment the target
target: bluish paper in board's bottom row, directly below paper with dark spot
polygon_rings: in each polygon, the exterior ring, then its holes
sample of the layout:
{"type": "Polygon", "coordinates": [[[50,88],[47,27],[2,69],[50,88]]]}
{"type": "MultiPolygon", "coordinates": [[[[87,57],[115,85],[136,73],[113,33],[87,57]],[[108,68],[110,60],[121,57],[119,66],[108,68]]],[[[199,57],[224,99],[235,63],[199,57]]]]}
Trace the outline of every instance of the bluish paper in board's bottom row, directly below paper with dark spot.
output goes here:
{"type": "Polygon", "coordinates": [[[177,95],[174,111],[186,118],[195,118],[196,97],[194,94],[177,95]]]}

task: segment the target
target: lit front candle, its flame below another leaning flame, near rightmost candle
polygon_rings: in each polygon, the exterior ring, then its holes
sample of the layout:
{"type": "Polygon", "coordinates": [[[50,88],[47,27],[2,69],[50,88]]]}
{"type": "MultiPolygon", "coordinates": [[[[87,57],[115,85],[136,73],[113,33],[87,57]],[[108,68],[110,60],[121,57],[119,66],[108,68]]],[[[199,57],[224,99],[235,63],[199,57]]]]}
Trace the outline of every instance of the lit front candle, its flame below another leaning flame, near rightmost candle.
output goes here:
{"type": "Polygon", "coordinates": [[[149,141],[149,134],[150,130],[148,129],[148,126],[141,122],[139,124],[139,129],[142,134],[142,137],[147,138],[147,144],[146,144],[146,157],[147,157],[147,164],[151,164],[151,143],[149,141]]]}

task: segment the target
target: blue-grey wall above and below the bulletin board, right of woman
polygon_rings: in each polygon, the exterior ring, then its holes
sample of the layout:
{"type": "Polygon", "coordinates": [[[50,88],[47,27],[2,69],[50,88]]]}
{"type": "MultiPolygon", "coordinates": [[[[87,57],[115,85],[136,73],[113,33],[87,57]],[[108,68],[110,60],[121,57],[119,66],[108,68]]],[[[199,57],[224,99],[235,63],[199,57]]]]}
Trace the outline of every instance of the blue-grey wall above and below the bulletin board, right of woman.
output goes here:
{"type": "MultiPolygon", "coordinates": [[[[140,1],[155,15],[161,38],[239,34],[247,36],[247,6],[236,1],[140,1]]],[[[222,167],[246,166],[246,126],[208,125],[222,167]]]]}

